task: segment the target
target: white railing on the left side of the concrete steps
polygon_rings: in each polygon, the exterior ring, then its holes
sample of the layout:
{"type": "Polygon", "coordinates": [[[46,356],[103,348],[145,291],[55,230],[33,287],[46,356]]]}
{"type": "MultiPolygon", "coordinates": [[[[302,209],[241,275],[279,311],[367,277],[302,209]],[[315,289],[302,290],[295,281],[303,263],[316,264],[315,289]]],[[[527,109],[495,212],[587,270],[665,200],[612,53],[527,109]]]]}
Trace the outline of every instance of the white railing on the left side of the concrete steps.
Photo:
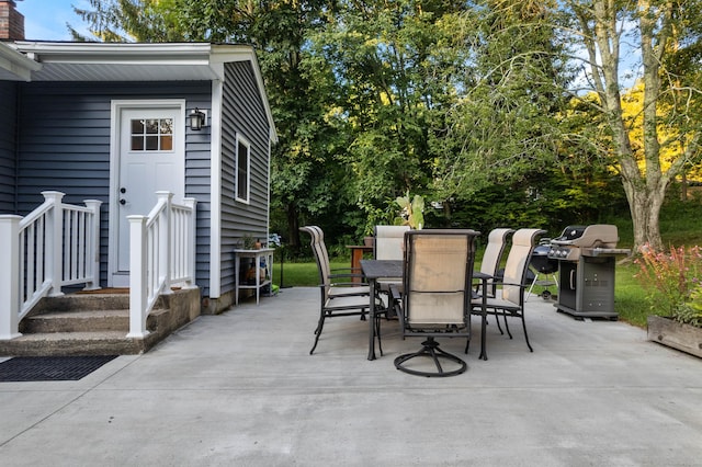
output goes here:
{"type": "Polygon", "coordinates": [[[64,193],[42,192],[44,203],[26,217],[0,215],[0,340],[20,337],[22,318],[61,286],[100,288],[100,205],[61,202],[64,193]]]}

